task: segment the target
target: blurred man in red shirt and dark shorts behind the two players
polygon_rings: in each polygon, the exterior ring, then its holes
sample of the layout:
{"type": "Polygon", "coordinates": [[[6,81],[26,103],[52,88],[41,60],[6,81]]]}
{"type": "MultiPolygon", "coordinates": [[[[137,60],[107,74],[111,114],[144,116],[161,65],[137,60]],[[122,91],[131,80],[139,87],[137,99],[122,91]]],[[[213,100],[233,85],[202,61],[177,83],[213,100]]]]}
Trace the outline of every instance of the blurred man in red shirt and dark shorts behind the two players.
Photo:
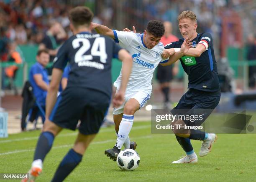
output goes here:
{"type": "MultiPolygon", "coordinates": [[[[171,42],[175,42],[178,41],[178,37],[176,37],[175,35],[172,35],[172,23],[171,22],[164,22],[164,28],[165,28],[165,32],[164,32],[164,36],[161,38],[160,42],[162,42],[165,45],[171,43],[171,42]]],[[[177,75],[178,73],[178,62],[176,62],[173,65],[169,65],[169,66],[161,66],[161,64],[159,64],[159,66],[157,67],[157,75],[156,78],[160,83],[160,89],[161,92],[164,95],[164,107],[165,108],[169,108],[170,107],[170,82],[172,81],[173,75],[177,75]]]]}

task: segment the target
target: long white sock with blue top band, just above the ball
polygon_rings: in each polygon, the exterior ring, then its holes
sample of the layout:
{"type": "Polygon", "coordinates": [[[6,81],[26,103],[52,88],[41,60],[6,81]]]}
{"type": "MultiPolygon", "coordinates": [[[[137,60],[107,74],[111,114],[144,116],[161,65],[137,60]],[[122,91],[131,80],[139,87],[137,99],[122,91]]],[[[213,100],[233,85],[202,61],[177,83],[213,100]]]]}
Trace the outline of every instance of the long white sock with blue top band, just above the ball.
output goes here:
{"type": "Polygon", "coordinates": [[[125,115],[123,114],[123,119],[119,125],[118,136],[116,140],[115,146],[121,149],[123,145],[125,145],[125,149],[130,148],[130,139],[129,133],[133,126],[133,115],[125,115]]]}

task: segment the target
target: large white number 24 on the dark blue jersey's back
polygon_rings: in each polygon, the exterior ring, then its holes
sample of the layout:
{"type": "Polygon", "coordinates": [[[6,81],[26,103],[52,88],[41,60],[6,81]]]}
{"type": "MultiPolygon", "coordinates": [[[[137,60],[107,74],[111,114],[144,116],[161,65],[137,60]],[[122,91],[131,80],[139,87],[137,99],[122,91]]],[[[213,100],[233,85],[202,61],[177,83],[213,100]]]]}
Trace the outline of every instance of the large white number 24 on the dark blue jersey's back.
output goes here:
{"type": "Polygon", "coordinates": [[[72,41],[74,49],[80,46],[79,42],[82,42],[82,47],[77,50],[77,53],[74,57],[74,61],[76,63],[80,61],[90,61],[92,60],[92,56],[100,56],[100,62],[107,62],[108,55],[106,53],[106,44],[104,37],[97,37],[95,39],[91,48],[90,55],[84,55],[84,53],[87,52],[87,50],[89,50],[91,47],[90,41],[86,38],[76,38],[72,41]]]}

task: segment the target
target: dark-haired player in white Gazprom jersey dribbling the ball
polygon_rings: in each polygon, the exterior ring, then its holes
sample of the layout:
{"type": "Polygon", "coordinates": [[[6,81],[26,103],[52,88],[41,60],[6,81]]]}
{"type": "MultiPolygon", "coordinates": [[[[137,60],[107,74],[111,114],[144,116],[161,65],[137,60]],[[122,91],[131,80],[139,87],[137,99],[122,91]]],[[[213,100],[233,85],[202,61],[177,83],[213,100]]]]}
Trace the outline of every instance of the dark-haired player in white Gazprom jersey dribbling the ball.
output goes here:
{"type": "MultiPolygon", "coordinates": [[[[91,26],[98,33],[112,37],[121,47],[128,50],[133,57],[133,68],[125,90],[125,102],[120,107],[114,108],[113,112],[117,142],[112,149],[105,151],[105,154],[115,161],[123,145],[125,148],[136,148],[136,142],[130,142],[128,136],[133,125],[133,115],[150,98],[151,80],[156,66],[159,63],[167,62],[169,59],[169,57],[161,57],[164,52],[164,45],[159,41],[164,35],[164,25],[160,21],[150,20],[142,34],[111,30],[104,25],[96,23],[92,23],[91,26]]],[[[187,41],[184,41],[184,44],[187,44],[187,41]]],[[[178,53],[174,54],[174,51],[169,51],[166,54],[168,56],[174,55],[172,56],[174,59],[179,56],[178,53]]],[[[121,77],[122,74],[120,73],[114,82],[117,90],[120,87],[121,77]]]]}

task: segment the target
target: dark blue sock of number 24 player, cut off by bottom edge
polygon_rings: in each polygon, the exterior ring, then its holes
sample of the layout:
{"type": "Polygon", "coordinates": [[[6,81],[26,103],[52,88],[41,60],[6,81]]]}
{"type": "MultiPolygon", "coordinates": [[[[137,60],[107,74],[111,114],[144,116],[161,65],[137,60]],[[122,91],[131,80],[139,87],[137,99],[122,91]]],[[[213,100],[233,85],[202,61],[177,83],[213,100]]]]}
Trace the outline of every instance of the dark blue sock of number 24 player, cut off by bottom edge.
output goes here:
{"type": "Polygon", "coordinates": [[[81,162],[82,155],[70,149],[55,172],[52,182],[62,182],[81,162]]]}

